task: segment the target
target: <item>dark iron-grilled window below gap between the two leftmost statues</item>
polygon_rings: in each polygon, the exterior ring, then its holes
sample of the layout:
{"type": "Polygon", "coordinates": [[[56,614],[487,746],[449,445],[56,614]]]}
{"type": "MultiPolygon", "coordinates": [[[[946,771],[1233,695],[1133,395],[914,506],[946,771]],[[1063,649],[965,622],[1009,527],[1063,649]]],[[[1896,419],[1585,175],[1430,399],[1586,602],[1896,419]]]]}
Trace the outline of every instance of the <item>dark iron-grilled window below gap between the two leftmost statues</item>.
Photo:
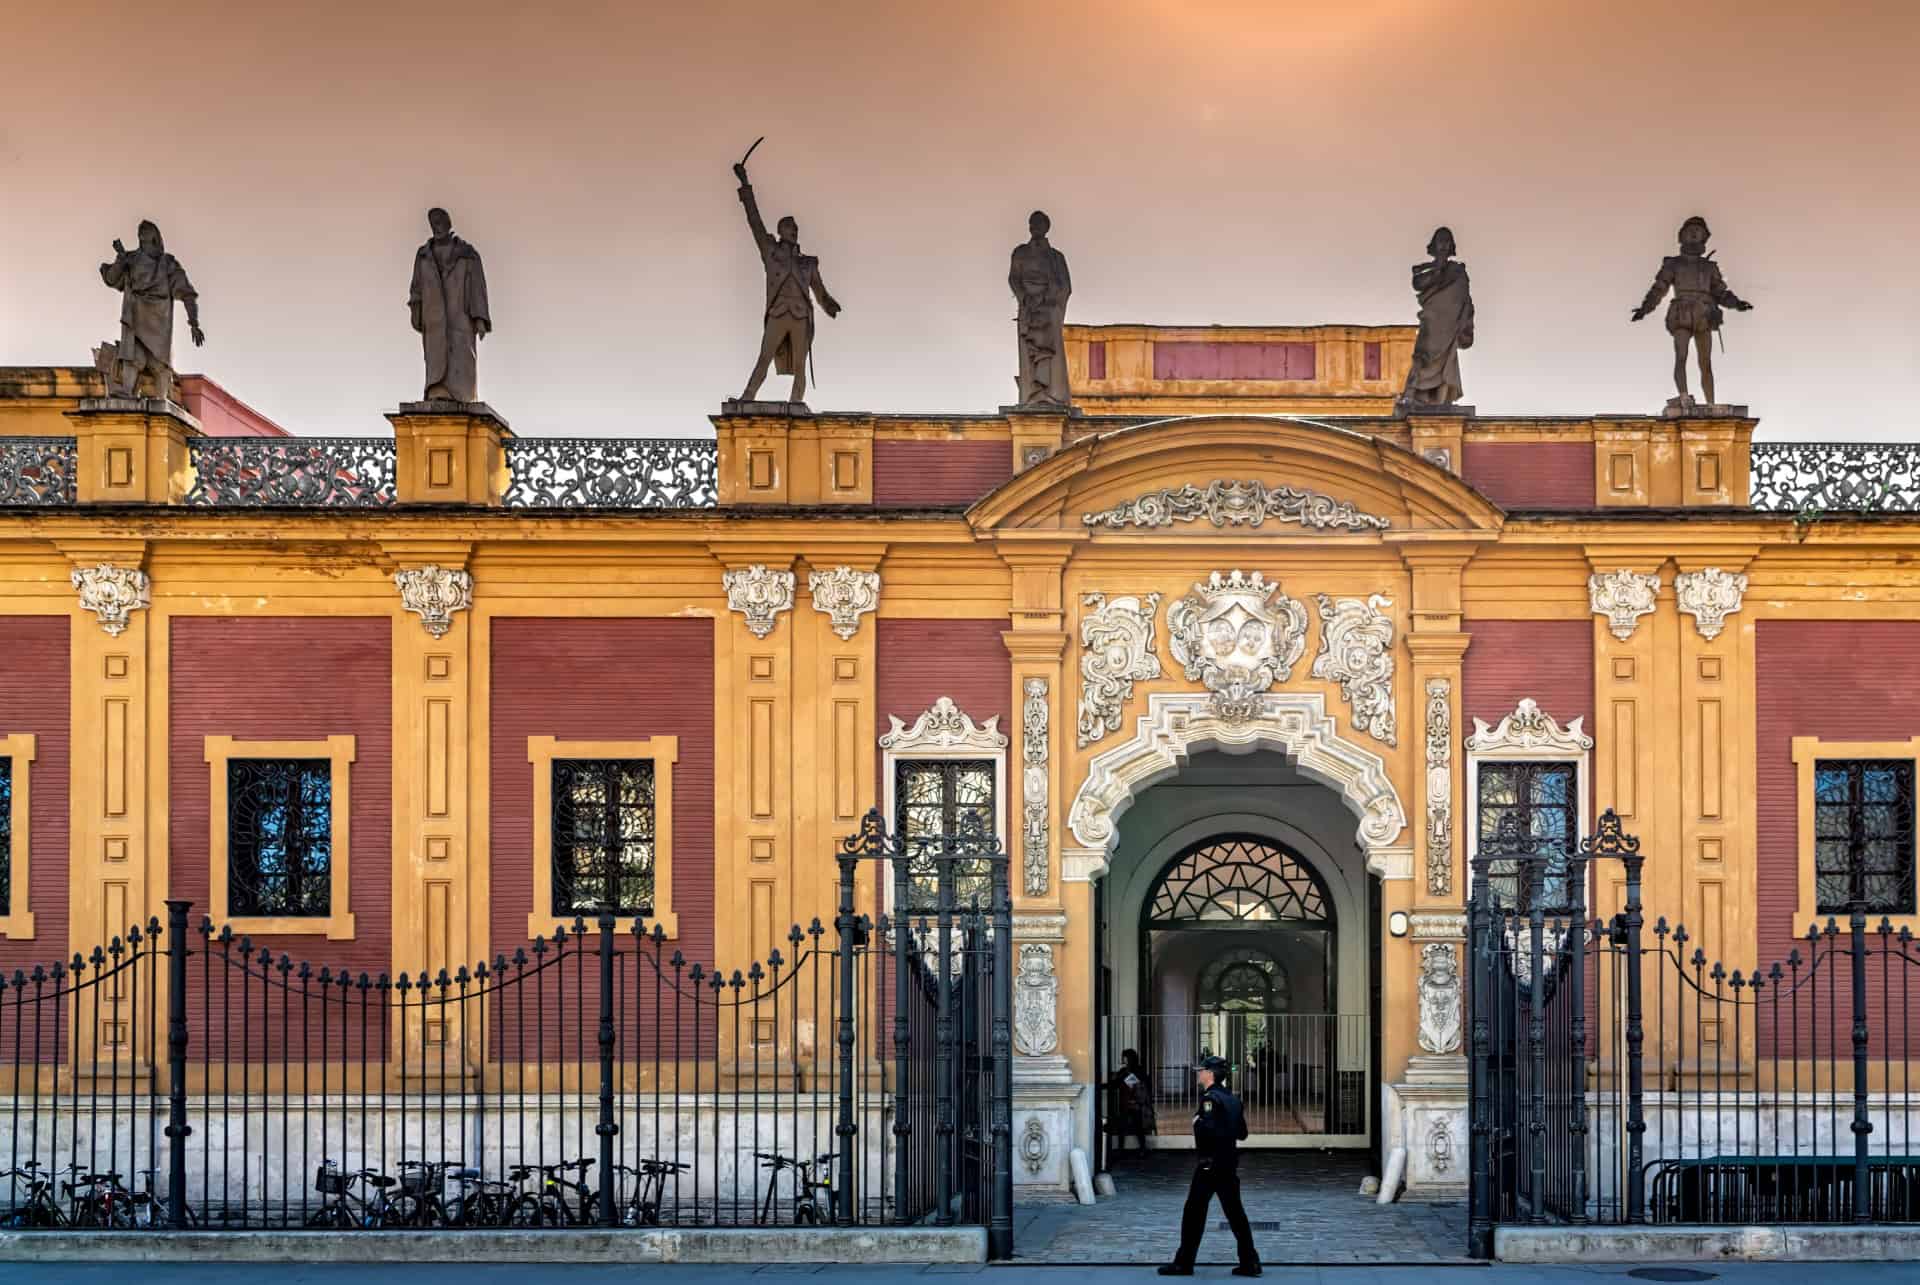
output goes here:
{"type": "Polygon", "coordinates": [[[326,759],[227,761],[228,914],[332,912],[332,770],[326,759]]]}

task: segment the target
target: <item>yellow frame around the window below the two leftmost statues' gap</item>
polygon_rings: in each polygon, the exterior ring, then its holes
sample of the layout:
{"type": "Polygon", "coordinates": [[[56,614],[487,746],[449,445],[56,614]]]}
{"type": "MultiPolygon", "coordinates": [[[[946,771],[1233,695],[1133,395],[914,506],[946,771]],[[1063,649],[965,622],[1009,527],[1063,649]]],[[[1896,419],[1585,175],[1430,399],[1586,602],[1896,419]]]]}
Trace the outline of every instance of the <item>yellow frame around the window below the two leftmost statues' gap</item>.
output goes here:
{"type": "Polygon", "coordinates": [[[232,928],[248,935],[321,937],[353,941],[351,853],[353,822],[353,738],[328,736],[311,741],[242,741],[230,736],[205,738],[209,772],[207,797],[207,907],[215,930],[232,928]],[[324,759],[328,763],[328,889],[326,914],[232,914],[232,855],[228,832],[232,807],[227,791],[228,763],[234,759],[324,759]]]}

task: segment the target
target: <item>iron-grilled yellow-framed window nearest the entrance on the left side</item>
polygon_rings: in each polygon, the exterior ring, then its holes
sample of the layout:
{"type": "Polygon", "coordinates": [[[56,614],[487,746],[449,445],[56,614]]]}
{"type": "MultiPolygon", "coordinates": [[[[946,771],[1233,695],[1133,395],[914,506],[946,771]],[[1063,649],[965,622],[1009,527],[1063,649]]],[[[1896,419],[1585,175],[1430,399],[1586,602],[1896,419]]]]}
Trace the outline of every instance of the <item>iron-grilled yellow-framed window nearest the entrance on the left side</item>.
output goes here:
{"type": "Polygon", "coordinates": [[[553,912],[653,914],[653,761],[553,761],[553,912]]]}

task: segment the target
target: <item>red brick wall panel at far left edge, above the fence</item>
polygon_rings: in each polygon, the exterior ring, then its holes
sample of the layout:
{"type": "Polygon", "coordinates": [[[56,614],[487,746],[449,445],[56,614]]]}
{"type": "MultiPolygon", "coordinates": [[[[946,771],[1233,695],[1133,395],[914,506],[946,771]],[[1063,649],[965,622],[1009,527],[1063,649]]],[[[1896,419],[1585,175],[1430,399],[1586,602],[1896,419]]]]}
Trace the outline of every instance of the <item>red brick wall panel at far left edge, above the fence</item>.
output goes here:
{"type": "MultiPolygon", "coordinates": [[[[98,628],[98,626],[96,626],[98,628]]],[[[0,941],[0,968],[54,964],[71,958],[67,947],[67,668],[73,624],[67,617],[0,617],[0,736],[33,734],[27,764],[27,859],[31,887],[15,885],[33,910],[33,941],[0,941]]],[[[121,924],[125,930],[125,924],[121,924]]],[[[81,943],[88,951],[100,941],[81,943]]],[[[29,1020],[31,1022],[31,1020],[29,1020]]],[[[0,1039],[6,1033],[0,1031],[0,1039]]],[[[12,1053],[12,1049],[8,1049],[12,1053]]]]}

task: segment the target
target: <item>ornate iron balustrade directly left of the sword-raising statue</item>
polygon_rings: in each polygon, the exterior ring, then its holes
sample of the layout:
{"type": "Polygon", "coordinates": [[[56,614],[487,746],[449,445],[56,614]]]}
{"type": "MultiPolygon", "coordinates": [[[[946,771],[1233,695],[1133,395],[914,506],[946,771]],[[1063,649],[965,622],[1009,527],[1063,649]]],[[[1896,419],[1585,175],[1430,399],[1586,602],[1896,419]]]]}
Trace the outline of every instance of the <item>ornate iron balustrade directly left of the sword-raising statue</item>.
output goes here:
{"type": "Polygon", "coordinates": [[[509,509],[710,509],[720,444],[699,438],[515,438],[509,509]]]}

